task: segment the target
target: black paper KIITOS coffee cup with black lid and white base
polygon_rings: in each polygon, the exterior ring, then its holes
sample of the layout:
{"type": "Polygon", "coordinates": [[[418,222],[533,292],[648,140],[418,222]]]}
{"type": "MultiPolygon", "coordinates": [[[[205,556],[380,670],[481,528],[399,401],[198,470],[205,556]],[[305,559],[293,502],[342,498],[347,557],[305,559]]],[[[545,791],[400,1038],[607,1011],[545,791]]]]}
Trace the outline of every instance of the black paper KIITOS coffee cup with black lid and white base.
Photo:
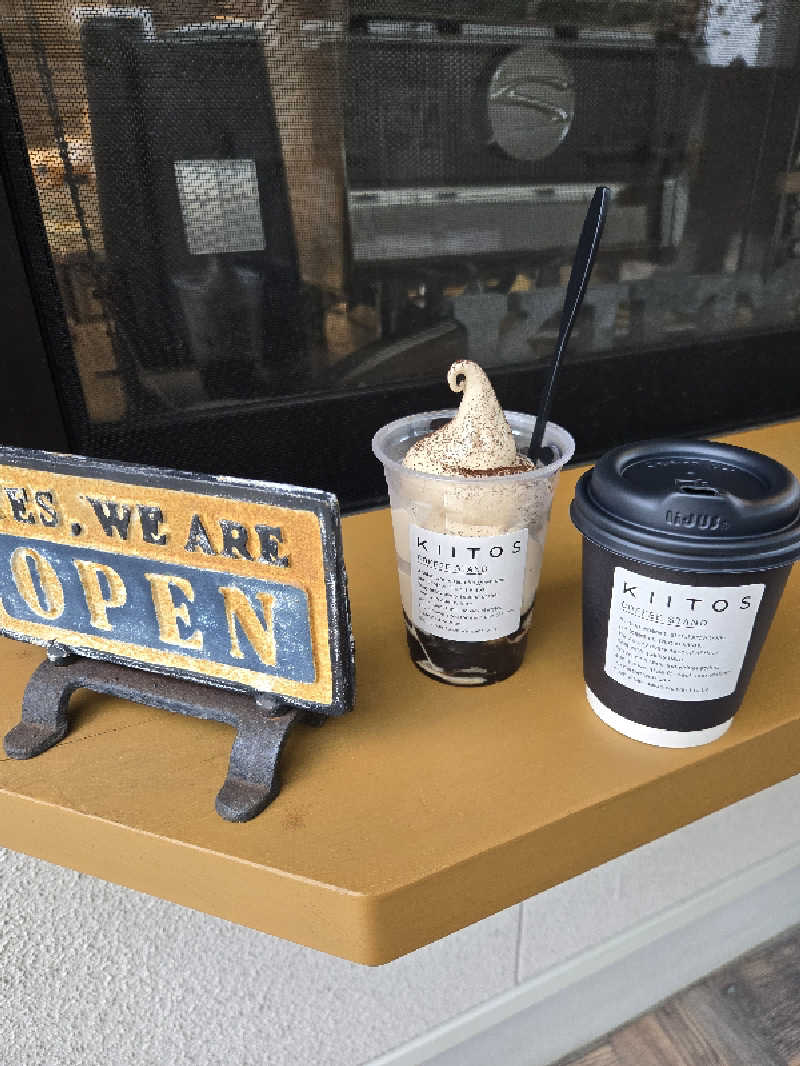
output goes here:
{"type": "Polygon", "coordinates": [[[797,479],[732,445],[647,441],[604,455],[570,513],[592,709],[649,744],[717,740],[800,559],[797,479]]]}

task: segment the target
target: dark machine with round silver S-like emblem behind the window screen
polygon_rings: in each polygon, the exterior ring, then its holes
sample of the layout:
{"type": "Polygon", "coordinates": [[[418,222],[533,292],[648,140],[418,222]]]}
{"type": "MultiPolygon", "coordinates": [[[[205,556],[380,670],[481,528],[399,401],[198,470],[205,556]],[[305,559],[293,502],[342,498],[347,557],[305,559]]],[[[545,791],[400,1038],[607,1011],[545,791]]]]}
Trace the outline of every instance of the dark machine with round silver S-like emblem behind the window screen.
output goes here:
{"type": "Polygon", "coordinates": [[[673,243],[697,92],[688,43],[364,21],[348,44],[355,263],[553,251],[614,188],[606,247],[673,243]]]}

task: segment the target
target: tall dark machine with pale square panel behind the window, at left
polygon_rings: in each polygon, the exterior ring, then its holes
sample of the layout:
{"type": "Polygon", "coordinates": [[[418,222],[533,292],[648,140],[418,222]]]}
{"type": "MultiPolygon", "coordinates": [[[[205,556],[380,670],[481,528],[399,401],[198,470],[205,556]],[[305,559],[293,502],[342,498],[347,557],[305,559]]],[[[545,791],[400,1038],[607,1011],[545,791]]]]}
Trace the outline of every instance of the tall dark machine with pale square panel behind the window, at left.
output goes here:
{"type": "Polygon", "coordinates": [[[157,37],[143,17],[96,15],[81,41],[129,377],[167,401],[191,393],[192,375],[208,399],[301,382],[300,278],[258,33],[212,23],[157,37]]]}

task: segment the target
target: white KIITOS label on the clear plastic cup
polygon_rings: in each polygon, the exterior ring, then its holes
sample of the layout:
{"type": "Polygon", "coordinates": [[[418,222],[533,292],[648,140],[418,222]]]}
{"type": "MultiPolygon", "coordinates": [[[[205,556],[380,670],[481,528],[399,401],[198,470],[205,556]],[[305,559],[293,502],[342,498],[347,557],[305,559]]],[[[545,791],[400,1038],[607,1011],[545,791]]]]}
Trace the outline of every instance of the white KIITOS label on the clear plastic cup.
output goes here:
{"type": "Polygon", "coordinates": [[[453,536],[409,527],[412,621],[450,641],[493,641],[519,628],[527,529],[453,536]]]}

